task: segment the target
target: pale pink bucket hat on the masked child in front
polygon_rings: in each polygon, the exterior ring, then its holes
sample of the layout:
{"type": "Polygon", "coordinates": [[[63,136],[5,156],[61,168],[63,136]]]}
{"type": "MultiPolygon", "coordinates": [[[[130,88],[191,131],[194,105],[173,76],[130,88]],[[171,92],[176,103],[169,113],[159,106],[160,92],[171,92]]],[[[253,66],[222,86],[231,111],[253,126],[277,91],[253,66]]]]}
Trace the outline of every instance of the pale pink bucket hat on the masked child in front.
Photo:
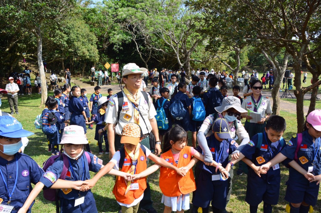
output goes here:
{"type": "Polygon", "coordinates": [[[81,126],[66,126],[60,144],[88,144],[85,132],[81,126]]]}

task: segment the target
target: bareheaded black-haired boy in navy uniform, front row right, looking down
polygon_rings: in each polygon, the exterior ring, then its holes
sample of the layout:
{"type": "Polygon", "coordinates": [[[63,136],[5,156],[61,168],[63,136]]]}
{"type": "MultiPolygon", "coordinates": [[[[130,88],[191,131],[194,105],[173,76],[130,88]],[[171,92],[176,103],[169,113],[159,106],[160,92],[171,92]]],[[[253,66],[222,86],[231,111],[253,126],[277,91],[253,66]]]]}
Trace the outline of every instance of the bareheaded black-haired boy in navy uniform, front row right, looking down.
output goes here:
{"type": "MultiPolygon", "coordinates": [[[[266,122],[265,132],[254,135],[247,145],[240,149],[239,158],[230,161],[226,170],[230,170],[241,159],[250,167],[247,175],[247,192],[245,201],[250,205],[250,213],[256,213],[258,205],[264,201],[264,213],[272,212],[272,205],[276,205],[280,195],[280,166],[276,164],[273,170],[260,169],[260,166],[273,159],[285,146],[282,135],[286,129],[284,118],[272,115],[266,122]],[[260,138],[260,139],[259,139],[260,138]],[[262,139],[262,142],[259,140],[262,139]],[[261,144],[257,148],[257,144],[261,144]]],[[[238,157],[233,155],[234,157],[238,157]]]]}

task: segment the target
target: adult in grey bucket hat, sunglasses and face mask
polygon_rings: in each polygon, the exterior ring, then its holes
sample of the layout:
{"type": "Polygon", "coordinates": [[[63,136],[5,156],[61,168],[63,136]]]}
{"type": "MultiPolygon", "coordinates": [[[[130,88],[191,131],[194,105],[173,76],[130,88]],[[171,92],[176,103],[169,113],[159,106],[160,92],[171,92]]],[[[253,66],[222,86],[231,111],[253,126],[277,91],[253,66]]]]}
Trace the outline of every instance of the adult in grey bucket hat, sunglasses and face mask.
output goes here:
{"type": "MultiPolygon", "coordinates": [[[[231,138],[233,138],[234,142],[239,140],[239,141],[242,141],[243,144],[247,144],[250,140],[247,134],[247,131],[245,130],[244,126],[239,120],[241,114],[247,113],[247,111],[241,107],[241,102],[239,98],[234,96],[225,97],[222,100],[222,105],[215,107],[215,110],[217,113],[210,114],[205,118],[197,134],[197,141],[204,153],[204,163],[206,165],[212,165],[212,163],[210,162],[213,161],[212,153],[210,151],[210,148],[207,146],[206,137],[209,137],[210,135],[213,134],[211,129],[215,119],[224,118],[227,120],[227,122],[229,123],[230,136],[231,138]]],[[[198,163],[203,163],[203,162],[198,162],[198,163]]],[[[200,172],[200,169],[198,166],[196,166],[195,167],[196,184],[197,184],[199,172],[200,172]]],[[[226,204],[230,201],[230,195],[232,191],[232,178],[233,178],[233,170],[230,170],[230,177],[227,179],[228,193],[227,193],[226,204]]]]}

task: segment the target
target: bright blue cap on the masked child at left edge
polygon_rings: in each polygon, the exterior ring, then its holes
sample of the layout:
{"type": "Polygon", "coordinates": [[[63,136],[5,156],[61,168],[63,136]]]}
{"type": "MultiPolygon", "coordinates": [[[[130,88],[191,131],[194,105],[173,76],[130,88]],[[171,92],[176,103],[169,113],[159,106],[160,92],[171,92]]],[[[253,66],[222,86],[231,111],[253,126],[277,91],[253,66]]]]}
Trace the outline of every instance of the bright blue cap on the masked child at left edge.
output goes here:
{"type": "Polygon", "coordinates": [[[22,124],[14,117],[0,116],[0,136],[22,138],[33,134],[33,132],[22,129],[22,124]]]}

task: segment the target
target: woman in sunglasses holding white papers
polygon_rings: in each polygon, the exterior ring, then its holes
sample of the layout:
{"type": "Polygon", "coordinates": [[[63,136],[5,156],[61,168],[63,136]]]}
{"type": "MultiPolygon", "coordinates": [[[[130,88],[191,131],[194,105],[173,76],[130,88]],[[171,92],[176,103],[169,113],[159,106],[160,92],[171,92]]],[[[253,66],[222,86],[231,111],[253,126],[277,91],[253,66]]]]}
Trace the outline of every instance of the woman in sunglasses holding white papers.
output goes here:
{"type": "Polygon", "coordinates": [[[253,94],[247,96],[242,103],[242,108],[248,113],[242,117],[247,119],[244,127],[252,138],[255,134],[264,132],[266,120],[272,114],[272,108],[270,99],[261,94],[263,87],[260,80],[252,81],[250,88],[253,94]]]}

